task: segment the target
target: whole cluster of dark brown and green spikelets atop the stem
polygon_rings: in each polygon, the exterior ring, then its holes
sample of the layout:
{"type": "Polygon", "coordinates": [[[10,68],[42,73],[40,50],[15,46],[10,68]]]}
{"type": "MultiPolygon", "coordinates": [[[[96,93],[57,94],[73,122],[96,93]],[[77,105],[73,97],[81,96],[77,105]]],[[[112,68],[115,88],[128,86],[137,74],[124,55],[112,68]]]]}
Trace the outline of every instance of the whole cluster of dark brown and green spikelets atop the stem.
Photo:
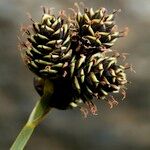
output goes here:
{"type": "Polygon", "coordinates": [[[25,30],[23,48],[28,68],[38,76],[34,80],[38,93],[42,95],[43,82],[49,79],[55,86],[52,107],[83,110],[85,103],[95,114],[94,97],[116,105],[113,93],[125,94],[128,68],[117,63],[119,55],[111,50],[126,34],[114,22],[118,11],[109,14],[105,8],[85,8],[81,12],[78,8],[71,16],[61,12],[56,17],[43,10],[41,21],[32,20],[31,29],[25,30]]]}

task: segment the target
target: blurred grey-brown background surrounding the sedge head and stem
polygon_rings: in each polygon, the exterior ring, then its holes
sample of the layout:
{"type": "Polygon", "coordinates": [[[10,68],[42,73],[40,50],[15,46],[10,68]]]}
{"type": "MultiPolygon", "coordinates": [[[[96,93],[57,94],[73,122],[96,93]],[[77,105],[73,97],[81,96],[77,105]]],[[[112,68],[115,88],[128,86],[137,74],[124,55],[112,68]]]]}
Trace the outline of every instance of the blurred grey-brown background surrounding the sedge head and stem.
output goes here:
{"type": "MultiPolygon", "coordinates": [[[[0,149],[8,150],[25,124],[39,96],[33,74],[17,49],[26,13],[36,20],[41,5],[55,11],[73,6],[73,0],[0,0],[0,149]]],[[[80,1],[77,1],[80,2],[80,1]]],[[[83,0],[88,7],[121,9],[116,22],[129,35],[113,49],[129,53],[135,73],[128,72],[127,98],[114,109],[98,103],[98,116],[85,119],[78,109],[53,110],[37,128],[26,150],[149,150],[150,149],[150,1],[83,0]]],[[[54,12],[55,12],[54,11],[54,12]]]]}

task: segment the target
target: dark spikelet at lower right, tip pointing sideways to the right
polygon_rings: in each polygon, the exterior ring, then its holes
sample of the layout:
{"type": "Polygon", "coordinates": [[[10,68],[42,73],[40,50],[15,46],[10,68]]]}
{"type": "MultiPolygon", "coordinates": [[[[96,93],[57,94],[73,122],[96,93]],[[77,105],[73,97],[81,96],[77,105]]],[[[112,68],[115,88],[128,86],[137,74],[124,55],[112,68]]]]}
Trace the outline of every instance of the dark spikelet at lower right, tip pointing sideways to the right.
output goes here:
{"type": "Polygon", "coordinates": [[[81,55],[77,61],[73,58],[71,62],[73,88],[80,101],[91,101],[93,97],[104,99],[112,93],[119,93],[127,84],[126,68],[117,64],[116,57],[99,52],[87,59],[81,55]]]}

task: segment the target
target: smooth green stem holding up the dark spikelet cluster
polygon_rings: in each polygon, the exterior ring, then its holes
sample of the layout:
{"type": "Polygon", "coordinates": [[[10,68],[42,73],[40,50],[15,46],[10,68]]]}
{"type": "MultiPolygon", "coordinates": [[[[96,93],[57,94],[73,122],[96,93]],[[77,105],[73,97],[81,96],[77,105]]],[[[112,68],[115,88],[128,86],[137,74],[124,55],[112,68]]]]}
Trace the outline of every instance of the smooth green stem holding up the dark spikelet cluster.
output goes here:
{"type": "Polygon", "coordinates": [[[26,125],[23,127],[23,129],[17,136],[10,150],[23,150],[24,149],[34,129],[44,119],[46,114],[51,110],[51,107],[49,106],[49,102],[50,102],[53,92],[54,92],[53,84],[49,80],[46,80],[44,84],[43,96],[35,105],[26,125]]]}

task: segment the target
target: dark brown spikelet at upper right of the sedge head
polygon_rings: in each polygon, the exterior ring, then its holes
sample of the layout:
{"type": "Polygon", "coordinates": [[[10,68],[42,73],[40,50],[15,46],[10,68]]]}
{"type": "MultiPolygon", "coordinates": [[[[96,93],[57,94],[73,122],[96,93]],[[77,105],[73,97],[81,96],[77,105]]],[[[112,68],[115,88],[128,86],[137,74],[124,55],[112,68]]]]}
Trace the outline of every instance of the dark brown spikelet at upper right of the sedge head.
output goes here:
{"type": "Polygon", "coordinates": [[[90,55],[97,52],[110,51],[116,40],[126,34],[118,31],[115,24],[116,13],[108,13],[105,8],[96,11],[85,8],[82,13],[79,9],[72,17],[72,45],[76,51],[90,55]],[[74,21],[76,19],[76,21],[74,21]]]}

